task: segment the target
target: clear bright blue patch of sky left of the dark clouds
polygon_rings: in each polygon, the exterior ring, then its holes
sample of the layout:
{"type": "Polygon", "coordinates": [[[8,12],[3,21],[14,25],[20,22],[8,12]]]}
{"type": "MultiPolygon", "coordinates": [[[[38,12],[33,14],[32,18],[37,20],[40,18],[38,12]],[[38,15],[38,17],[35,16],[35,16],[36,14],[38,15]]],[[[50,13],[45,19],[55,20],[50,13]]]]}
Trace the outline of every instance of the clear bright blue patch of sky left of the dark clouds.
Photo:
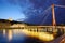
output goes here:
{"type": "Polygon", "coordinates": [[[21,12],[20,5],[10,4],[6,1],[0,0],[0,18],[18,19],[18,18],[25,18],[25,15],[21,12]]]}

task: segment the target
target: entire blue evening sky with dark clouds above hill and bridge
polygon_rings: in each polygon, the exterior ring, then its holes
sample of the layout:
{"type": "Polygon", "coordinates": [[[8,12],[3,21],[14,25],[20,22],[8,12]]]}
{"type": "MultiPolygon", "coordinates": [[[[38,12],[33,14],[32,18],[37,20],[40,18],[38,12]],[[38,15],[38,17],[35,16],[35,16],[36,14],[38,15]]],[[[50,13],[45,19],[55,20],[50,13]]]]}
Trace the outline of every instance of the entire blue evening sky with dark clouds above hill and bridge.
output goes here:
{"type": "MultiPolygon", "coordinates": [[[[52,4],[65,5],[65,0],[0,0],[0,18],[35,25],[52,25],[52,4]]],[[[65,24],[65,9],[55,6],[56,24],[65,24]]]]}

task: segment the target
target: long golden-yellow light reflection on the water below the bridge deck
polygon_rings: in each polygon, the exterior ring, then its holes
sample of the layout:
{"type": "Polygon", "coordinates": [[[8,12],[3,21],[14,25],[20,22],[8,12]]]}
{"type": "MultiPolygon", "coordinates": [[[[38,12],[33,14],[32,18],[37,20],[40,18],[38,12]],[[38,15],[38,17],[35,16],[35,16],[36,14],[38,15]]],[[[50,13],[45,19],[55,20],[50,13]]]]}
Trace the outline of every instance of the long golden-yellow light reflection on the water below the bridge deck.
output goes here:
{"type": "Polygon", "coordinates": [[[23,32],[29,37],[35,37],[42,41],[51,41],[54,39],[53,34],[49,34],[47,32],[34,32],[34,31],[28,31],[27,29],[24,29],[23,32]]]}

